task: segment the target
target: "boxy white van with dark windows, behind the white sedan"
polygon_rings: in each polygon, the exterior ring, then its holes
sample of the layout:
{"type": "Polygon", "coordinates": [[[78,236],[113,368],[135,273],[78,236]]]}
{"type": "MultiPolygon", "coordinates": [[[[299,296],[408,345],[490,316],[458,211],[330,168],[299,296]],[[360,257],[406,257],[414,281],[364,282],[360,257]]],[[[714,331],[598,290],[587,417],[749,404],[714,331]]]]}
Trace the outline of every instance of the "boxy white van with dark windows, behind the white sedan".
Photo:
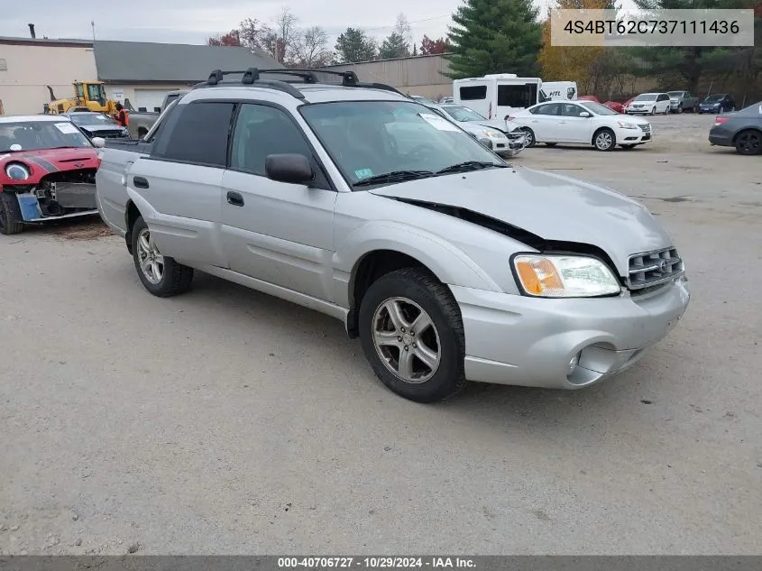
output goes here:
{"type": "Polygon", "coordinates": [[[504,119],[511,112],[546,101],[540,78],[519,78],[515,73],[493,73],[483,78],[455,79],[454,102],[488,119],[504,119]]]}

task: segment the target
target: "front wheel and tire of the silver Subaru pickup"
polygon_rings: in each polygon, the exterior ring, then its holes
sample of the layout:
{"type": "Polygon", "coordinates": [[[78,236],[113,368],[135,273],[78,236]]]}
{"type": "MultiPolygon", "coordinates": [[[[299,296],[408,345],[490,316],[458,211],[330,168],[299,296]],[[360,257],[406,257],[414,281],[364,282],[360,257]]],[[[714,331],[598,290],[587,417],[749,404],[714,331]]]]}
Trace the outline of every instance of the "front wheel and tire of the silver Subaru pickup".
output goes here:
{"type": "Polygon", "coordinates": [[[373,372],[416,402],[443,401],[465,386],[465,337],[453,294],[426,272],[403,268],[374,281],[359,313],[373,372]]]}

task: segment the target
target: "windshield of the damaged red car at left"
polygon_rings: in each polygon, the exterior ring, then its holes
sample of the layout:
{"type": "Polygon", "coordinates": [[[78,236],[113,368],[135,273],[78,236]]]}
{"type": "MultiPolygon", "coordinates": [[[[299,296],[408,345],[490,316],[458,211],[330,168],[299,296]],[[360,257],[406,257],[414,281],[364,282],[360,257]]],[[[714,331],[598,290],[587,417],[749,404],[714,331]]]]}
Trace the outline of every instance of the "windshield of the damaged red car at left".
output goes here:
{"type": "Polygon", "coordinates": [[[69,121],[0,123],[0,152],[11,151],[13,145],[19,145],[22,151],[93,146],[69,121]]]}

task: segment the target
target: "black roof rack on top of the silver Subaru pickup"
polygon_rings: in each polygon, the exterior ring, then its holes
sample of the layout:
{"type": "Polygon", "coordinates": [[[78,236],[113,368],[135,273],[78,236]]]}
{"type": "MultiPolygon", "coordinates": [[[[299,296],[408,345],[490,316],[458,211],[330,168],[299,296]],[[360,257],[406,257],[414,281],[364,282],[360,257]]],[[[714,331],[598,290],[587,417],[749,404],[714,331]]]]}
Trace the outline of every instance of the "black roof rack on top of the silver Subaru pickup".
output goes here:
{"type": "MultiPolygon", "coordinates": [[[[346,71],[334,71],[333,69],[293,69],[293,68],[280,68],[280,69],[257,69],[249,68],[245,70],[229,70],[223,71],[222,69],[215,69],[209,74],[209,78],[206,81],[202,81],[193,86],[193,89],[197,87],[214,87],[222,83],[223,79],[227,75],[243,75],[241,83],[243,85],[252,85],[257,87],[271,87],[272,89],[278,89],[284,91],[292,97],[298,99],[304,99],[304,94],[296,87],[292,86],[288,81],[280,81],[276,79],[261,79],[262,74],[275,74],[281,76],[294,76],[301,78],[304,83],[316,84],[320,83],[317,78],[318,73],[326,73],[328,75],[338,76],[342,78],[342,87],[363,87],[369,89],[383,89],[384,91],[391,91],[401,96],[405,96],[404,93],[399,91],[396,87],[391,87],[385,83],[362,83],[357,74],[351,69],[346,71]]],[[[225,84],[225,85],[233,85],[225,84]]]]}

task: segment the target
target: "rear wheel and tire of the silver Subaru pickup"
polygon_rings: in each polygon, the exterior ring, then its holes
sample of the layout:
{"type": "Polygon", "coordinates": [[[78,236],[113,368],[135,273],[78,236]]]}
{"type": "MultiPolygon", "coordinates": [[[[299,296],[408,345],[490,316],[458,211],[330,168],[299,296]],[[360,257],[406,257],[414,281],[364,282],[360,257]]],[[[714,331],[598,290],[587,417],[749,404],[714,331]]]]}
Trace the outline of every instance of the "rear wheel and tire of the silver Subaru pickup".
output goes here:
{"type": "Polygon", "coordinates": [[[135,220],[132,234],[135,270],[146,290],[159,298],[170,298],[190,289],[193,268],[159,253],[142,216],[135,220]]]}

